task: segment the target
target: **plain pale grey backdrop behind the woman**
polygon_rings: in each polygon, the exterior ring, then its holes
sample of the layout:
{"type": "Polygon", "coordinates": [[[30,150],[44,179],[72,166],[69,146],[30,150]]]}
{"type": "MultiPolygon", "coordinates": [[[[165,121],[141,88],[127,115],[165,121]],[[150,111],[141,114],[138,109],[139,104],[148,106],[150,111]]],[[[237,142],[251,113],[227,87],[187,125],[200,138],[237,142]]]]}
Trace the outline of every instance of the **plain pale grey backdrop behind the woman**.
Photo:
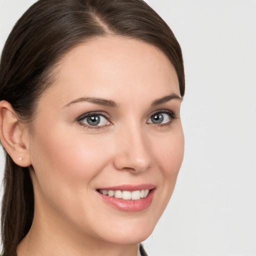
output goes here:
{"type": "MultiPolygon", "coordinates": [[[[0,0],[0,50],[34,0],[0,0]]],[[[147,0],[184,56],[185,155],[150,256],[256,256],[256,0],[147,0]]],[[[0,178],[3,152],[0,151],[0,178]]]]}

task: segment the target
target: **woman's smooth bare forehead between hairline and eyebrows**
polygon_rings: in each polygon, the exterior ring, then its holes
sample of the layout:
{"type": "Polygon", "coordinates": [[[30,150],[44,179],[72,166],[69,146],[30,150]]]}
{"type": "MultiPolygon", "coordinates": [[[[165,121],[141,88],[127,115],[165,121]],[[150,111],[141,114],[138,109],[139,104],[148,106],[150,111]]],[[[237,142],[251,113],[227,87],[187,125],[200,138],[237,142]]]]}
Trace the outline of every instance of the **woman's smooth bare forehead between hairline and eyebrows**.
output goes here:
{"type": "Polygon", "coordinates": [[[50,91],[58,91],[63,104],[87,94],[120,98],[155,90],[180,95],[176,72],[165,54],[127,37],[99,37],[74,47],[60,60],[56,73],[50,91]],[[60,95],[62,91],[68,93],[60,95]]]}

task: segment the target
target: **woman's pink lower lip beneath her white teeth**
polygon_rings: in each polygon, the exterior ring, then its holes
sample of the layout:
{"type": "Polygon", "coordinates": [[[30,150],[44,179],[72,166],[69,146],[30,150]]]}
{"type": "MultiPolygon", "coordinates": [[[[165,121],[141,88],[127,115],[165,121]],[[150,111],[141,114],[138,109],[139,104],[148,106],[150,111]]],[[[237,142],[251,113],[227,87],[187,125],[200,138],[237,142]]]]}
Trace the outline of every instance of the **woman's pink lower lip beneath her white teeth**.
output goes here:
{"type": "Polygon", "coordinates": [[[104,195],[99,192],[98,194],[106,203],[118,210],[135,212],[149,207],[153,200],[154,191],[155,189],[151,189],[146,197],[138,200],[124,200],[121,198],[104,195]]]}

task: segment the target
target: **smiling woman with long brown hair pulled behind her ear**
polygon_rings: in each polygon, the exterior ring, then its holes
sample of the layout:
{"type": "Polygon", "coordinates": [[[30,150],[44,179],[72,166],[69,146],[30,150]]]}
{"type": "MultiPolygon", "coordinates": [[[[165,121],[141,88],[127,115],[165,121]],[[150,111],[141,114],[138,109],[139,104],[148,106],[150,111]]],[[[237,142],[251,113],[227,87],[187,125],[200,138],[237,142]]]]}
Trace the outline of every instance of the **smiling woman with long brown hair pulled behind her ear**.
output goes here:
{"type": "Polygon", "coordinates": [[[125,255],[183,158],[181,50],[142,0],[39,0],[0,63],[4,255],[125,255]]]}

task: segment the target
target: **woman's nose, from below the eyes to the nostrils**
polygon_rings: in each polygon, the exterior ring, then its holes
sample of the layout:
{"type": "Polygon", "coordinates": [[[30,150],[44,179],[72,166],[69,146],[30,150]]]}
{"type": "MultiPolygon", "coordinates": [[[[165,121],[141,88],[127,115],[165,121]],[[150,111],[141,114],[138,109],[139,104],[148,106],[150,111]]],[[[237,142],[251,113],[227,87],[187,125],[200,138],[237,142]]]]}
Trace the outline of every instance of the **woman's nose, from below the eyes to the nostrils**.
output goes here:
{"type": "Polygon", "coordinates": [[[139,128],[126,129],[118,138],[114,158],[116,169],[140,173],[150,167],[150,146],[145,132],[139,128]]]}

